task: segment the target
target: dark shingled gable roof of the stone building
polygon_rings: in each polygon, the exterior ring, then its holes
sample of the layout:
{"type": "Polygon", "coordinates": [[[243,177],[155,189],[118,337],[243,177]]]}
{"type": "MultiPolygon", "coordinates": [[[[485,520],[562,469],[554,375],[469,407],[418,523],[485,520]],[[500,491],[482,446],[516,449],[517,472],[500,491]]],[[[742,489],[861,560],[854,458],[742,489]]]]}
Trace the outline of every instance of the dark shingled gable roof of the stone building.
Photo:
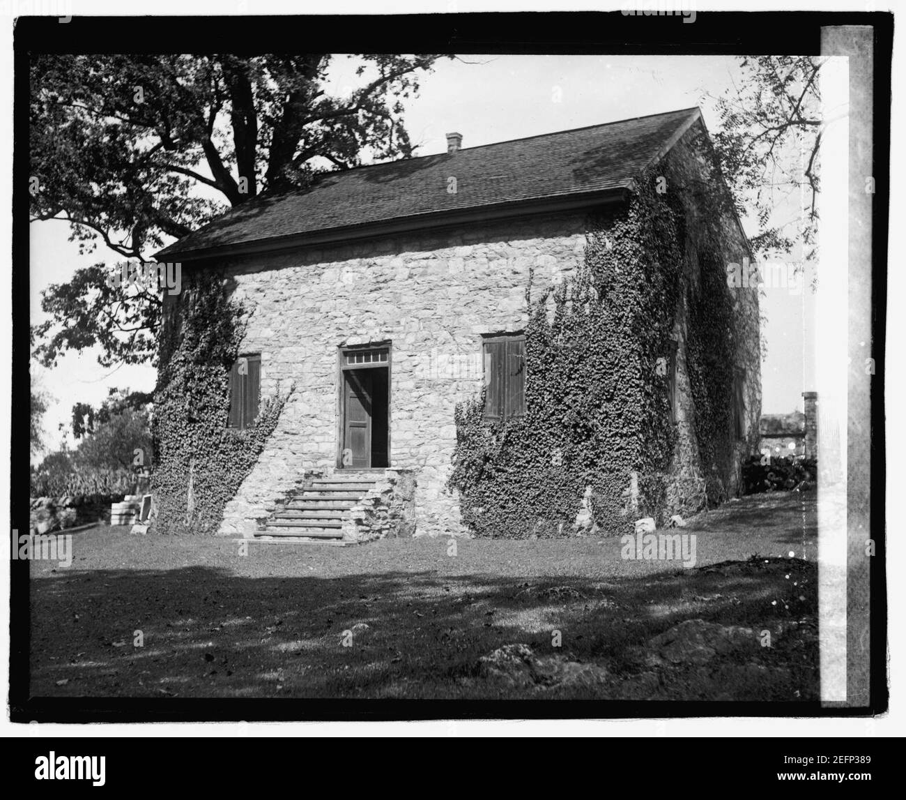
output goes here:
{"type": "Polygon", "coordinates": [[[157,258],[254,252],[625,196],[699,118],[689,108],[330,172],[309,190],[248,200],[157,258]]]}

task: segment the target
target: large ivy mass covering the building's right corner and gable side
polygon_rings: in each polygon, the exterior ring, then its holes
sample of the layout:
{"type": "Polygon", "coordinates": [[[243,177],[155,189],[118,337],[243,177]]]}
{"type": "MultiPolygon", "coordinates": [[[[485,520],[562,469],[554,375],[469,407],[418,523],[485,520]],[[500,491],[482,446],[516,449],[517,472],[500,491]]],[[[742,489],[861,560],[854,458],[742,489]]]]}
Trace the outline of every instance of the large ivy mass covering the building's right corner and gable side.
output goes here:
{"type": "Polygon", "coordinates": [[[630,200],[590,217],[578,274],[553,295],[528,296],[524,417],[486,420],[484,396],[458,405],[449,486],[472,532],[573,535],[577,514],[598,535],[622,534],[638,516],[662,522],[677,441],[662,365],[683,308],[700,470],[709,498],[723,499],[734,460],[733,301],[724,198],[700,170],[688,152],[671,153],[630,200]]]}

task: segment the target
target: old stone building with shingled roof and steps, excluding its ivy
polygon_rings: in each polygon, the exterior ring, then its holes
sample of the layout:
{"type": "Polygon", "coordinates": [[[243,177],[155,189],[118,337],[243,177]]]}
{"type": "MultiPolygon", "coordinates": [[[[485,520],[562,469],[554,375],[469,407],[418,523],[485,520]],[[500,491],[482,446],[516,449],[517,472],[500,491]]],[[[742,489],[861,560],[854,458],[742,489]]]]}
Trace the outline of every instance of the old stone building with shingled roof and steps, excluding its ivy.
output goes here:
{"type": "MultiPolygon", "coordinates": [[[[467,532],[449,486],[458,404],[484,391],[489,417],[524,411],[533,380],[524,368],[529,295],[582,268],[590,214],[625,206],[669,153],[699,159],[701,136],[698,109],[472,149],[453,133],[447,153],[262,195],[159,253],[184,274],[226,274],[252,309],[226,424],[252,424],[261,398],[296,387],[227,503],[221,532],[345,541],[467,532]]],[[[719,224],[717,268],[751,259],[735,216],[719,224]]],[[[684,286],[699,280],[695,260],[684,286]]],[[[661,366],[677,432],[667,502],[690,512],[704,502],[708,474],[699,464],[685,298],[661,366]]],[[[734,303],[727,335],[737,382],[728,402],[737,441],[726,455],[737,463],[757,450],[757,289],[734,303]]],[[[178,313],[178,298],[165,304],[178,313]]],[[[631,493],[636,476],[626,480],[631,493]]],[[[583,494],[574,501],[581,512],[583,494]]]]}

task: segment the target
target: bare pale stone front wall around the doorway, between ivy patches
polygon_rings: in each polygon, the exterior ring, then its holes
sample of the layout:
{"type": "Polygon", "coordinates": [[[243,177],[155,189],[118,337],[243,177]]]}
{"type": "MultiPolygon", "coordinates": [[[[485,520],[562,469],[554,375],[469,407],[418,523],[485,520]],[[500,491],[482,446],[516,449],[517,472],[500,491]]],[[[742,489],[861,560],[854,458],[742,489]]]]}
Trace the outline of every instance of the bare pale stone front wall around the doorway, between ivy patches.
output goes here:
{"type": "Polygon", "coordinates": [[[337,348],[387,340],[390,467],[414,473],[416,535],[466,532],[446,488],[454,408],[481,389],[482,334],[522,330],[530,283],[546,288],[582,263],[584,219],[501,220],[214,265],[250,311],[241,352],[261,354],[262,398],[296,389],[220,532],[250,534],[306,470],[333,473],[337,348]]]}

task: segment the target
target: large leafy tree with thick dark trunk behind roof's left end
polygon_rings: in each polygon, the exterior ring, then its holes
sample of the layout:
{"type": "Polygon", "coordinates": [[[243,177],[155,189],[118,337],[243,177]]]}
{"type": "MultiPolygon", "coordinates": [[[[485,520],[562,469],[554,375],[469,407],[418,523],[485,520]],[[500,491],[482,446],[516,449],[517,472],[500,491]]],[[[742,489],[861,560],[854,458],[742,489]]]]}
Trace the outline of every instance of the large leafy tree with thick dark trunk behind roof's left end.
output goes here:
{"type": "MultiPolygon", "coordinates": [[[[408,158],[402,102],[436,55],[363,54],[361,85],[328,90],[333,56],[34,55],[31,219],[66,220],[82,252],[101,241],[147,261],[262,192],[329,170],[408,158]]],[[[102,263],[43,293],[34,355],[100,346],[101,366],[154,360],[160,299],[108,286],[102,263]]]]}

